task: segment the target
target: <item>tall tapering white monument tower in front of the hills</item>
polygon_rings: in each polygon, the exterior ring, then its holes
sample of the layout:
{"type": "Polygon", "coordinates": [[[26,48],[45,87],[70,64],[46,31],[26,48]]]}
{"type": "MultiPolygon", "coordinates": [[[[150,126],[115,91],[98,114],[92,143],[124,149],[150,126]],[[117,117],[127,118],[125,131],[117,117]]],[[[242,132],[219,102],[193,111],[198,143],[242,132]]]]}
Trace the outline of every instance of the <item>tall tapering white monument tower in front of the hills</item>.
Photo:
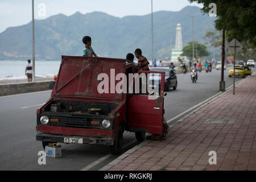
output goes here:
{"type": "Polygon", "coordinates": [[[181,26],[178,23],[176,27],[176,40],[175,40],[175,49],[172,49],[172,62],[179,62],[178,57],[180,57],[182,53],[182,35],[181,35],[181,26]]]}

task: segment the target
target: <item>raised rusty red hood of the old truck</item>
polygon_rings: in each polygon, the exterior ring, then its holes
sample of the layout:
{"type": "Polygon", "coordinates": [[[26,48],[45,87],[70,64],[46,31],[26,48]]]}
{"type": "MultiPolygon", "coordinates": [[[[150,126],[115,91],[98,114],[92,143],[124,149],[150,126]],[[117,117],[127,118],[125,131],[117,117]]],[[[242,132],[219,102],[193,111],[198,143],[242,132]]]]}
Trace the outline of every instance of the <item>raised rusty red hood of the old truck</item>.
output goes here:
{"type": "Polygon", "coordinates": [[[114,78],[118,73],[126,73],[124,59],[103,57],[61,56],[61,64],[52,98],[80,97],[98,100],[122,100],[122,93],[110,93],[110,69],[114,69],[114,78]],[[97,86],[103,80],[97,80],[100,73],[109,78],[109,93],[98,93],[97,86]]]}

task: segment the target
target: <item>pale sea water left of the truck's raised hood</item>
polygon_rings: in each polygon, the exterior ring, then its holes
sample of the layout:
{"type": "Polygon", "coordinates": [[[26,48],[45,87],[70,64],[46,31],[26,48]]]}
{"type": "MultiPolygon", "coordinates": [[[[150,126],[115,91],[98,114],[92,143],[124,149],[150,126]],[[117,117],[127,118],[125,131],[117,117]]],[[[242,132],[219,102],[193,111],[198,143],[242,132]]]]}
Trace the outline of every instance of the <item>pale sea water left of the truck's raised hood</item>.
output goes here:
{"type": "MultiPolygon", "coordinates": [[[[53,77],[59,72],[61,61],[35,61],[36,77],[53,77]]],[[[27,61],[0,61],[0,80],[27,78],[25,75],[27,61]]]]}

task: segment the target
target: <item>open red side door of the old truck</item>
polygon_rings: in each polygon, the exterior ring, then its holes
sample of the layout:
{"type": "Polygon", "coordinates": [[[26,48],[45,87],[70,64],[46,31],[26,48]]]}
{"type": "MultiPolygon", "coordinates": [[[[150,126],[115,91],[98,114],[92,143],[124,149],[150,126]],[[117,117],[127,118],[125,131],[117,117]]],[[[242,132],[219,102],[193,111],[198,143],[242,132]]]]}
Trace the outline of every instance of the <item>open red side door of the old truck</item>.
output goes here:
{"type": "MultiPolygon", "coordinates": [[[[138,73],[149,74],[147,80],[147,94],[133,93],[127,97],[127,119],[132,131],[137,133],[151,133],[163,135],[163,114],[164,114],[164,78],[165,72],[139,71],[138,73]],[[156,77],[154,79],[154,77],[156,77]],[[148,89],[154,83],[158,86],[158,94],[148,89]]],[[[134,78],[135,80],[135,78],[134,78]]],[[[133,85],[134,81],[133,80],[133,85]]],[[[141,84],[141,83],[140,83],[141,84]]],[[[131,85],[130,85],[131,86],[131,85]]]]}

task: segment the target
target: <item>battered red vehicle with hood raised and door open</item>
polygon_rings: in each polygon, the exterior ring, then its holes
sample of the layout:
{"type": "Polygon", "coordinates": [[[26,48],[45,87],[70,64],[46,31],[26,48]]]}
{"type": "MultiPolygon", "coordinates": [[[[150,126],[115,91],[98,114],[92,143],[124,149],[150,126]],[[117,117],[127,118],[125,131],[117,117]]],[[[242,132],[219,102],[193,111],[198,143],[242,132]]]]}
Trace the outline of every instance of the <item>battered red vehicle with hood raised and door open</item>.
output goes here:
{"type": "MultiPolygon", "coordinates": [[[[153,100],[148,99],[148,92],[98,92],[102,81],[98,75],[117,78],[123,73],[128,78],[134,71],[134,65],[124,59],[62,56],[51,97],[36,111],[36,140],[44,148],[57,142],[105,144],[112,154],[119,154],[125,130],[134,132],[139,141],[145,133],[163,136],[164,72],[144,71],[160,75],[160,93],[153,100]]],[[[104,89],[111,90],[118,82],[109,79],[109,88],[104,89]]]]}

